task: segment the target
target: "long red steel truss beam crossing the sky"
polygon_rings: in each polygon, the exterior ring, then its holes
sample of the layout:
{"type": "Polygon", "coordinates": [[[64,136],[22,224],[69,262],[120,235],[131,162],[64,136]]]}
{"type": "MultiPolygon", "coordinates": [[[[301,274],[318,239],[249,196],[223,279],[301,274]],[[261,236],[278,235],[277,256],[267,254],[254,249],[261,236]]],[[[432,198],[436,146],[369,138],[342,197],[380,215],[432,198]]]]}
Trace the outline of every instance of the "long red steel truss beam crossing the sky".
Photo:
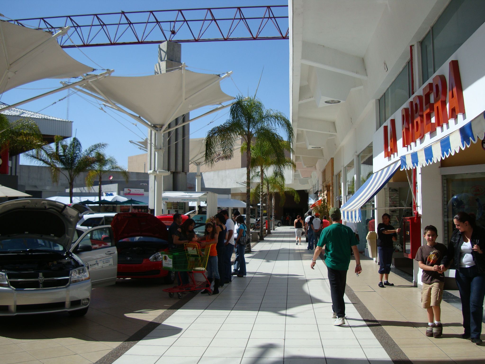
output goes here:
{"type": "Polygon", "coordinates": [[[288,39],[288,6],[153,10],[11,20],[54,32],[63,48],[224,40],[288,39]]]}

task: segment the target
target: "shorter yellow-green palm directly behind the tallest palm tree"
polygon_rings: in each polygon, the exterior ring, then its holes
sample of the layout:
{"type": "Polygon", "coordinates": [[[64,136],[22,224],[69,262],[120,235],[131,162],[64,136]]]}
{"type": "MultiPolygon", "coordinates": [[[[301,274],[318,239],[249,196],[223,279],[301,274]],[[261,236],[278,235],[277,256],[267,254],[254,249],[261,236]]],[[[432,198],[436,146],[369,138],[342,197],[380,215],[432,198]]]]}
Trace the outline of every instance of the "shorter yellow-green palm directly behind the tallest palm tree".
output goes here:
{"type": "MultiPolygon", "coordinates": [[[[268,216],[269,219],[269,211],[271,210],[270,206],[270,192],[269,192],[269,184],[268,180],[265,181],[265,175],[269,168],[273,168],[273,174],[276,177],[280,177],[284,181],[284,173],[287,167],[296,168],[295,163],[289,157],[285,156],[285,151],[292,151],[290,143],[283,140],[279,135],[279,143],[268,143],[266,140],[257,140],[254,145],[251,146],[251,169],[253,171],[257,171],[256,175],[253,176],[253,180],[255,178],[259,178],[259,206],[263,208],[263,195],[264,189],[266,189],[266,206],[268,207],[268,216]],[[277,148],[275,149],[275,146],[277,148]]],[[[252,197],[253,198],[253,197],[252,197]]],[[[260,214],[262,216],[262,213],[260,214]]],[[[261,240],[263,238],[263,225],[260,224],[260,232],[259,235],[261,236],[261,240]]],[[[271,234],[271,226],[268,226],[268,233],[271,234]]]]}

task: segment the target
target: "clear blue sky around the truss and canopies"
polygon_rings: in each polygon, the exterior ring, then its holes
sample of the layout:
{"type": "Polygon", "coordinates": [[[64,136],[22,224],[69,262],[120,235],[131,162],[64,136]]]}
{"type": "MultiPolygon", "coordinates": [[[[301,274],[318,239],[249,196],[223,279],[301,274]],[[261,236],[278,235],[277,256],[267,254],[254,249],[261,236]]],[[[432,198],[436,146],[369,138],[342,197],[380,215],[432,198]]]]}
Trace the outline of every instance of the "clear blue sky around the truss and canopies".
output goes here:
{"type": "MultiPolygon", "coordinates": [[[[64,15],[93,14],[123,11],[145,11],[165,9],[189,9],[200,7],[227,7],[250,5],[282,5],[284,0],[245,0],[245,1],[3,1],[1,13],[9,18],[52,17],[64,15]]],[[[285,25],[287,26],[287,25],[285,25]]],[[[286,31],[286,28],[285,28],[286,31]]],[[[152,74],[157,62],[157,45],[131,45],[81,48],[89,58],[102,68],[111,68],[113,75],[152,74]]],[[[66,49],[75,59],[89,66],[99,68],[78,49],[66,49]]],[[[265,41],[224,41],[204,43],[182,43],[182,61],[195,72],[225,73],[233,71],[232,79],[221,83],[221,88],[228,95],[236,96],[238,89],[246,95],[254,95],[262,74],[258,97],[266,108],[283,112],[289,116],[289,42],[288,40],[265,41]],[[201,68],[204,70],[198,70],[201,68]]],[[[42,80],[20,86],[5,92],[0,101],[13,104],[28,99],[48,90],[37,88],[57,87],[59,80],[42,80]],[[35,88],[35,89],[31,89],[35,88]]],[[[102,112],[92,103],[73,95],[49,106],[67,95],[67,91],[32,101],[20,106],[23,109],[41,112],[49,116],[68,118],[73,123],[73,134],[83,147],[91,144],[108,143],[107,153],[113,155],[120,165],[128,165],[128,156],[142,151],[129,143],[129,140],[142,140],[146,128],[133,125],[127,116],[120,116],[109,111],[102,112]],[[49,106],[49,107],[47,107],[49,106]],[[47,108],[46,108],[47,107],[47,108]],[[115,117],[117,120],[113,119],[115,117]]],[[[209,111],[211,107],[191,113],[191,117],[209,111]]],[[[210,128],[227,119],[227,110],[206,116],[191,124],[191,138],[204,137],[210,128]],[[210,123],[212,121],[212,123],[210,123]],[[210,123],[209,125],[207,125],[210,123]]],[[[25,158],[22,164],[31,164],[25,158]]]]}

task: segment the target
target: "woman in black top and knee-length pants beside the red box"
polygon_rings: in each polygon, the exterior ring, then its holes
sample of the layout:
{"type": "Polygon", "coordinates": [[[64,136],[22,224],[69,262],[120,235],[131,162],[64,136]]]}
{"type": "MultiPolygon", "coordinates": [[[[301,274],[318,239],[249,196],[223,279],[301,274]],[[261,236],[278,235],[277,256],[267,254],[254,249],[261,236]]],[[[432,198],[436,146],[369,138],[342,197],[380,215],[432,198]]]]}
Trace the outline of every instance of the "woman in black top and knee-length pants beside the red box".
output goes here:
{"type": "Polygon", "coordinates": [[[393,242],[397,241],[397,234],[401,229],[394,229],[390,225],[391,216],[382,215],[382,223],[377,225],[377,252],[379,254],[379,287],[393,286],[389,283],[389,273],[391,272],[392,253],[394,252],[393,242]],[[384,282],[382,277],[384,276],[384,282]]]}

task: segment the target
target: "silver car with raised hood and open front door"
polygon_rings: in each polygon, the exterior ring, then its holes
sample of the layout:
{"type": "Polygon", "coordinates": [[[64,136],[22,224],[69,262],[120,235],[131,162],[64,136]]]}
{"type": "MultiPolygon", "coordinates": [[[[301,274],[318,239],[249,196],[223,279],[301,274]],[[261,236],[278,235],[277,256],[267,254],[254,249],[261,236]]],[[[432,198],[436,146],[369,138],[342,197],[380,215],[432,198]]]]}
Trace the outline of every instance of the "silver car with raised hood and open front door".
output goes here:
{"type": "Polygon", "coordinates": [[[79,212],[57,201],[0,204],[0,316],[86,314],[91,287],[114,284],[111,226],[77,236],[79,212]]]}

